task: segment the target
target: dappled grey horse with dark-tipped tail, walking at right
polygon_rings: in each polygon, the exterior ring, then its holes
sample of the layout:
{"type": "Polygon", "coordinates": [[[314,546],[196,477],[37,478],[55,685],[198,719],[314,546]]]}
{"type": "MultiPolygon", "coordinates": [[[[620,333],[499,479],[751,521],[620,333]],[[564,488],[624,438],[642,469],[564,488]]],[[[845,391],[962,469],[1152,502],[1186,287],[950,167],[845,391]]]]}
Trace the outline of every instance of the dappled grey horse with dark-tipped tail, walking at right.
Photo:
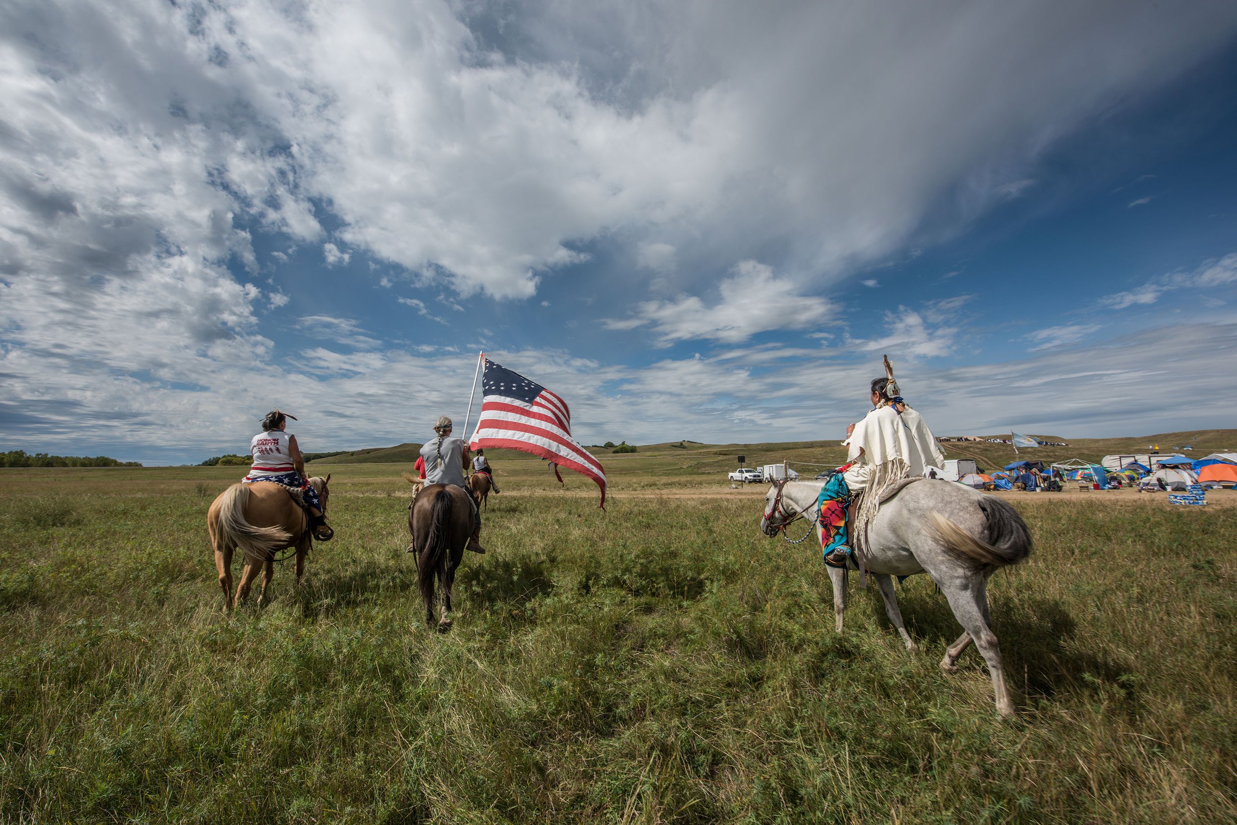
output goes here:
{"type": "MultiPolygon", "coordinates": [[[[813,518],[824,481],[789,481],[769,487],[764,496],[761,531],[776,536],[800,515],[813,518]]],[[[820,527],[816,527],[819,538],[820,527]]],[[[855,536],[851,536],[855,543],[855,536]]],[[[898,633],[914,649],[915,643],[902,623],[891,575],[927,573],[933,578],[962,635],[945,651],[940,667],[946,673],[974,641],[992,674],[997,712],[1008,716],[1013,703],[1006,690],[1001,649],[988,615],[988,576],[998,568],[1017,564],[1030,553],[1030,533],[1018,512],[995,496],[986,496],[952,481],[922,479],[907,485],[881,505],[868,527],[865,564],[884,599],[884,612],[898,633]]],[[[816,543],[819,548],[819,541],[816,543]]],[[[834,615],[842,632],[846,610],[846,570],[829,568],[834,585],[834,615]]]]}

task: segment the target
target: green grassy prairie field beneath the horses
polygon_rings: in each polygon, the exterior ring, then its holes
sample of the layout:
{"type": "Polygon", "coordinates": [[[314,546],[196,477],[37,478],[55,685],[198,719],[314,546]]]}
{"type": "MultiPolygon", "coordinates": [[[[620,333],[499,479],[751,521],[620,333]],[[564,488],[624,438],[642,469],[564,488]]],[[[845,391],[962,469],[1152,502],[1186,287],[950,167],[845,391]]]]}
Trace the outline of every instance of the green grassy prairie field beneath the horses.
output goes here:
{"type": "Polygon", "coordinates": [[[918,652],[857,576],[837,636],[819,549],[691,453],[611,456],[606,512],[496,460],[447,636],[407,466],[323,465],[336,539],[231,615],[204,519],[236,468],[0,470],[0,821],[1237,819],[1237,508],[1011,496],[1035,549],[991,588],[1002,722],[974,651],[938,669],[930,580],[898,588],[918,652]]]}

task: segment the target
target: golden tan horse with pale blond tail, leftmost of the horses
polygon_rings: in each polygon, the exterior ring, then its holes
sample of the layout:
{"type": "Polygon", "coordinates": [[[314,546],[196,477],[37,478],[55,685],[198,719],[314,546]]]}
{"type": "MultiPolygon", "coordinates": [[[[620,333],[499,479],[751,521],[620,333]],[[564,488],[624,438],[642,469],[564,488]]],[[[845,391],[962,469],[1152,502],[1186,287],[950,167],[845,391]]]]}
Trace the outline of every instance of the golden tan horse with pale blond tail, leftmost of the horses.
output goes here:
{"type": "MultiPolygon", "coordinates": [[[[322,512],[327,513],[327,500],[330,491],[327,477],[314,476],[309,484],[322,498],[322,512]]],[[[262,604],[266,585],[275,575],[275,553],[289,547],[297,550],[297,584],[306,569],[306,554],[313,534],[309,532],[309,518],[304,510],[292,500],[288,491],[270,481],[234,484],[219,494],[207,513],[207,529],[210,532],[210,545],[215,548],[215,566],[219,569],[219,586],[224,591],[224,610],[239,605],[249,596],[249,588],[262,568],[262,588],[257,594],[257,604],[262,604]],[[236,597],[231,592],[233,552],[245,552],[245,568],[240,574],[236,597]]]]}

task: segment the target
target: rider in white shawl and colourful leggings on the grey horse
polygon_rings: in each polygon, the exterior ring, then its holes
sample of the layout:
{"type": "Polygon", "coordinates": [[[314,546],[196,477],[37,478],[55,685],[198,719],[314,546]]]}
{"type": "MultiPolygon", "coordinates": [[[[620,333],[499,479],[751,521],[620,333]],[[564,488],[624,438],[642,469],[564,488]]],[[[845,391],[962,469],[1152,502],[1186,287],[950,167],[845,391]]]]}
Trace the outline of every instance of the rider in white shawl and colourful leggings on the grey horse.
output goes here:
{"type": "Polygon", "coordinates": [[[898,395],[888,359],[886,371],[888,377],[872,381],[873,409],[846,428],[842,445],[850,447],[847,464],[829,476],[818,500],[825,564],[830,566],[846,566],[852,553],[846,506],[854,494],[868,491],[861,506],[871,513],[887,490],[903,479],[924,475],[929,464],[941,466],[945,461],[923,416],[898,395]]]}

